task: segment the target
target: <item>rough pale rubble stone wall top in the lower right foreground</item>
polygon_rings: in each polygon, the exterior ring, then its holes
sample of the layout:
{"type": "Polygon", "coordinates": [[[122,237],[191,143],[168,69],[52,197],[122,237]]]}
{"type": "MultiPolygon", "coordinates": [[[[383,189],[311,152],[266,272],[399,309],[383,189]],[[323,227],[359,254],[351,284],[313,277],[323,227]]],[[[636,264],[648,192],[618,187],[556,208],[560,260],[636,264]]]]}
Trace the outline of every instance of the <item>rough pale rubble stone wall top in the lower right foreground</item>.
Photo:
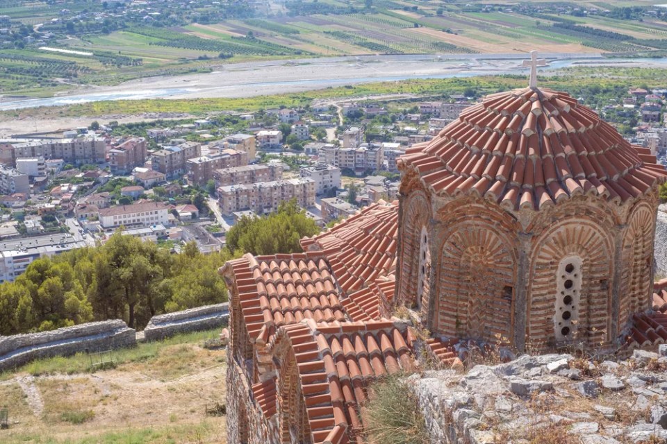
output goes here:
{"type": "Polygon", "coordinates": [[[432,443],[667,443],[667,345],[625,361],[523,355],[409,382],[432,443]]]}

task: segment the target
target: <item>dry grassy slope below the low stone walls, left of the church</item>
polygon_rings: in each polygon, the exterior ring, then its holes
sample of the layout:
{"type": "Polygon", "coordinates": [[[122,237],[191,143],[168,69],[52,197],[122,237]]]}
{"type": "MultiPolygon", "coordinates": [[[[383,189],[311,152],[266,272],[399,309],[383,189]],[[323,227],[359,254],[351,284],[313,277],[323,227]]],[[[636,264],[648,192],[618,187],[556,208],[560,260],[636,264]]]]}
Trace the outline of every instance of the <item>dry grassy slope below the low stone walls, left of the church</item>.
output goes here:
{"type": "Polygon", "coordinates": [[[0,373],[3,444],[224,443],[225,350],[203,348],[218,330],[117,350],[110,368],[84,354],[0,373]]]}

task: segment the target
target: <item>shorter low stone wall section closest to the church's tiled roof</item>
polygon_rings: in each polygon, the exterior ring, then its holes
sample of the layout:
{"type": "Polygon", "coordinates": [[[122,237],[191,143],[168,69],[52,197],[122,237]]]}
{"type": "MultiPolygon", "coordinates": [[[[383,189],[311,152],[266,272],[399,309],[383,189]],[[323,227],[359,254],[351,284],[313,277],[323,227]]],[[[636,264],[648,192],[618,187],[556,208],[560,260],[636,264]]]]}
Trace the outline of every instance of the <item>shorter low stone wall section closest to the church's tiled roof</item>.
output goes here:
{"type": "Polygon", "coordinates": [[[144,329],[144,335],[146,341],[156,341],[176,333],[222,327],[228,322],[229,303],[224,302],[153,316],[144,329]]]}

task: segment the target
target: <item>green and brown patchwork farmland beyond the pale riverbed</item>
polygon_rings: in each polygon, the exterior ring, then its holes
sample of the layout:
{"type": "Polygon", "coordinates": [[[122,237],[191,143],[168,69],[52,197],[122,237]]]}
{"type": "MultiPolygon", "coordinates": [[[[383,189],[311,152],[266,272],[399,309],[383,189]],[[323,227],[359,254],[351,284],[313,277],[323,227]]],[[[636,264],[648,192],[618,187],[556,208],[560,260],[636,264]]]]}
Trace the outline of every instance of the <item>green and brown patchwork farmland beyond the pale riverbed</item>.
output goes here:
{"type": "Polygon", "coordinates": [[[540,0],[520,6],[505,0],[493,6],[474,0],[289,0],[255,9],[190,3],[195,6],[183,12],[179,2],[155,2],[154,9],[163,10],[150,17],[116,2],[115,10],[107,10],[84,0],[3,1],[0,30],[7,26],[5,35],[13,40],[0,33],[0,94],[49,96],[267,59],[667,51],[667,8],[654,8],[657,0],[540,0]],[[2,16],[9,21],[3,24],[2,16]],[[45,51],[42,45],[79,53],[45,51]]]}

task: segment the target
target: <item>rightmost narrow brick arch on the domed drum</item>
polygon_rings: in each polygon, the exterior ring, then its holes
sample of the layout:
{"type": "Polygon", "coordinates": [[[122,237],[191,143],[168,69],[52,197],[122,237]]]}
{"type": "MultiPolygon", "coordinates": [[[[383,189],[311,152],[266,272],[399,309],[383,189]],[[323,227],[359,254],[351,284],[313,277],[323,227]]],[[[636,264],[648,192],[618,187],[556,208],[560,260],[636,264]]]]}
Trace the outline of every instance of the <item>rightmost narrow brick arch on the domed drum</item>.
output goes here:
{"type": "Polygon", "coordinates": [[[655,210],[649,203],[635,205],[623,234],[623,265],[618,294],[618,325],[650,307],[655,210]]]}

